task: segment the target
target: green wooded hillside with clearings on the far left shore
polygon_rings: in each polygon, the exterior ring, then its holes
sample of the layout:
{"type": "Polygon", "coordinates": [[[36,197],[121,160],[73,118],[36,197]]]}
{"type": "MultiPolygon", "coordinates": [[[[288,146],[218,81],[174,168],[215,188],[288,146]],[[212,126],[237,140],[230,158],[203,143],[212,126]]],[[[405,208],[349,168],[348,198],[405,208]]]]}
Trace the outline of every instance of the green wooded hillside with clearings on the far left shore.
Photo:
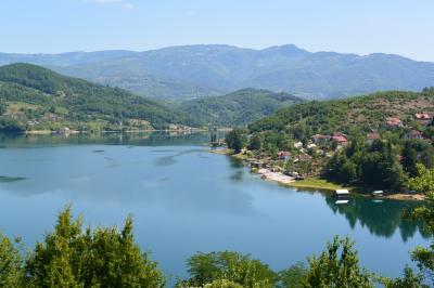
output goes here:
{"type": "Polygon", "coordinates": [[[179,113],[118,88],[29,64],[0,67],[0,130],[161,129],[170,123],[194,125],[179,113]]]}

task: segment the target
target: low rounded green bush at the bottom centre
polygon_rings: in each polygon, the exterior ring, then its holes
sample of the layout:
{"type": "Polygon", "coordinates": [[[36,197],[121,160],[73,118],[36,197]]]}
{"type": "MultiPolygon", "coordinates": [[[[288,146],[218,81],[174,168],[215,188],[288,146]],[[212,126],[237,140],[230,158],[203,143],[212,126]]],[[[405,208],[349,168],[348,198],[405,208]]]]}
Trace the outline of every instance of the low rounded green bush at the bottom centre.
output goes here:
{"type": "MultiPolygon", "coordinates": [[[[190,278],[178,284],[180,287],[197,287],[215,280],[228,280],[246,288],[266,288],[272,287],[277,280],[276,273],[268,265],[250,256],[231,251],[197,253],[187,260],[187,265],[190,278]]],[[[215,286],[209,287],[220,286],[215,283],[215,286]]]]}

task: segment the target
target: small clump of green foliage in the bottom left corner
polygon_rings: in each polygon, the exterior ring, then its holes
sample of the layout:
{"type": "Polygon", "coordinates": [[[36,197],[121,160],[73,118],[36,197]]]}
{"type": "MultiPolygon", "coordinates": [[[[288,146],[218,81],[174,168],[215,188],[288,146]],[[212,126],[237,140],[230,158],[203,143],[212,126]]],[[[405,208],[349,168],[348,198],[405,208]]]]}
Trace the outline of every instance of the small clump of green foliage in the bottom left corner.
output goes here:
{"type": "Polygon", "coordinates": [[[24,260],[16,244],[0,233],[0,287],[14,288],[23,285],[24,260]]]}

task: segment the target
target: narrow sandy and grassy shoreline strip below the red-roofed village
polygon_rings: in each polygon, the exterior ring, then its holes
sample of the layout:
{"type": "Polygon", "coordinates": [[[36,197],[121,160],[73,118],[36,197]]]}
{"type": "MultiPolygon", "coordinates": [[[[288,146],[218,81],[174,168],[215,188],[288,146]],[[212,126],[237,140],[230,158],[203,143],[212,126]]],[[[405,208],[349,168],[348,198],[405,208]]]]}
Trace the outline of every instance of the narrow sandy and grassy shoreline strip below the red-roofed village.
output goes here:
{"type": "MultiPolygon", "coordinates": [[[[250,162],[246,157],[241,154],[232,154],[233,152],[225,148],[225,149],[210,149],[210,153],[218,154],[218,155],[226,155],[229,157],[234,157],[240,160],[244,160],[250,162]]],[[[292,188],[299,188],[299,189],[316,189],[322,192],[334,192],[335,189],[348,189],[352,195],[359,196],[359,197],[369,197],[372,199],[392,199],[392,200],[411,200],[411,201],[424,201],[425,195],[423,194],[404,194],[404,193],[396,193],[396,194],[385,194],[380,197],[373,197],[371,194],[363,193],[361,191],[367,191],[367,188],[361,187],[353,187],[353,186],[344,186],[342,184],[332,183],[324,179],[319,178],[307,178],[305,180],[295,180],[292,176],[285,175],[282,172],[273,172],[269,169],[251,169],[251,173],[260,174],[263,180],[266,181],[273,181],[278,184],[292,187],[292,188]]]]}

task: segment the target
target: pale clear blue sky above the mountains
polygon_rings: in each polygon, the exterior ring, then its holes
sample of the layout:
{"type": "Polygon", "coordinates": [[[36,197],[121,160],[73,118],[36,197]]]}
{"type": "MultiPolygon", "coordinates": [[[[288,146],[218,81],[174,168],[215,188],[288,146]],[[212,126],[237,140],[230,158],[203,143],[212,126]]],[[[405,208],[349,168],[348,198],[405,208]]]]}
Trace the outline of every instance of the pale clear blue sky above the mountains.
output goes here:
{"type": "Polygon", "coordinates": [[[434,62],[433,0],[1,0],[0,51],[225,43],[434,62]]]}

